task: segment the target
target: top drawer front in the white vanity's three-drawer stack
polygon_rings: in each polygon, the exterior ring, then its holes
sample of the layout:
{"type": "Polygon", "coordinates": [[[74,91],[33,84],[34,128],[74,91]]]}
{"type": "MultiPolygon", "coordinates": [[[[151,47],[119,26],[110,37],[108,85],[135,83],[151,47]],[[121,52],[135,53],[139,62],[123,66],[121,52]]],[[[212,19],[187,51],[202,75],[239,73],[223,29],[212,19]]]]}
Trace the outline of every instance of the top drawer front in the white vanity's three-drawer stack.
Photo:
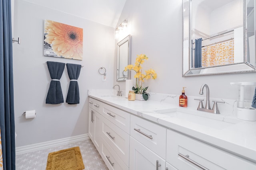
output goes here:
{"type": "Polygon", "coordinates": [[[118,109],[108,104],[103,105],[103,116],[109,121],[120,127],[123,131],[130,134],[130,113],[118,109]]]}

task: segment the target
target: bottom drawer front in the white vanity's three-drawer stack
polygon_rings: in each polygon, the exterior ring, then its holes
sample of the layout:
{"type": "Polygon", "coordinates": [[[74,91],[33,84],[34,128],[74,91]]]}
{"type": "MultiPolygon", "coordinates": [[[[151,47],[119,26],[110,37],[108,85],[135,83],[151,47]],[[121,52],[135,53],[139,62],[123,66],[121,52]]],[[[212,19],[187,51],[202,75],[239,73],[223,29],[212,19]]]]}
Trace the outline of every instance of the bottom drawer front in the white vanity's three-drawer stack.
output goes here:
{"type": "Polygon", "coordinates": [[[102,158],[110,170],[128,170],[129,168],[110,148],[108,143],[102,138],[102,158]]]}

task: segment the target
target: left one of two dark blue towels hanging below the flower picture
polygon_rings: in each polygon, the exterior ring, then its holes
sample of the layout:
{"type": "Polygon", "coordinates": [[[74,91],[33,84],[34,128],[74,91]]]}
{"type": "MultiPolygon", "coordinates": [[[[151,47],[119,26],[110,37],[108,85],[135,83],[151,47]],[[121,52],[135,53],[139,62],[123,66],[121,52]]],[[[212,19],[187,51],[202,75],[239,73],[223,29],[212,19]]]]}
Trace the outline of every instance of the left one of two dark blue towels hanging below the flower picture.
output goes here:
{"type": "Polygon", "coordinates": [[[62,90],[60,86],[60,78],[65,68],[65,63],[47,61],[48,70],[52,81],[46,97],[46,104],[63,103],[62,90]]]}

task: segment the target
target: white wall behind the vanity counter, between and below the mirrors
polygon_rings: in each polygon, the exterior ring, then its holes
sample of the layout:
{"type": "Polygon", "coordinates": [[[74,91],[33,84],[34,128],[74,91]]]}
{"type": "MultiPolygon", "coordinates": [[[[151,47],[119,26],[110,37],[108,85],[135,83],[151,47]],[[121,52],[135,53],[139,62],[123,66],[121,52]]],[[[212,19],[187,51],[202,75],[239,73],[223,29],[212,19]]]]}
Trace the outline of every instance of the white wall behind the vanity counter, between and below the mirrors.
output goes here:
{"type": "MultiPolygon", "coordinates": [[[[236,99],[230,82],[256,81],[256,73],[182,77],[182,0],[128,0],[118,23],[124,19],[131,27],[132,64],[144,53],[149,57],[144,68],[158,74],[156,80],[146,80],[150,92],[180,95],[186,86],[187,95],[205,97],[198,93],[206,83],[210,98],[236,99]]],[[[125,83],[120,84],[124,89],[125,83]]]]}

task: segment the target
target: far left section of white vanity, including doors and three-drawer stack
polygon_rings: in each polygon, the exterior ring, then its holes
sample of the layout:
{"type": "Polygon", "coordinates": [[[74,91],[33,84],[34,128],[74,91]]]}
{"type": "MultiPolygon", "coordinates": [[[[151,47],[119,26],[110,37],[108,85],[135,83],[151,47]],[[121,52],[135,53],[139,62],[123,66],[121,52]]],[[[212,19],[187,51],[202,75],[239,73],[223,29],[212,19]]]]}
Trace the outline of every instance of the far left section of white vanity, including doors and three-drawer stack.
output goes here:
{"type": "Polygon", "coordinates": [[[89,136],[109,169],[129,169],[130,113],[89,98],[89,136]]]}

